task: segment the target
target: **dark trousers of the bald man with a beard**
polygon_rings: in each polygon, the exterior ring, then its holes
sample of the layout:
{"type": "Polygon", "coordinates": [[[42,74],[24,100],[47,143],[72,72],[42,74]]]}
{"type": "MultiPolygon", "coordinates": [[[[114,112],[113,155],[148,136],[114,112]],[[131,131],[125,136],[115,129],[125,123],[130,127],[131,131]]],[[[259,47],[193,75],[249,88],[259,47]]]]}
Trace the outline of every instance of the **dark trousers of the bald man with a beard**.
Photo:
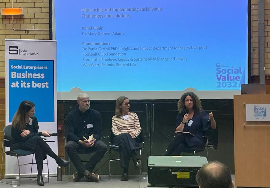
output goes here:
{"type": "Polygon", "coordinates": [[[70,160],[76,167],[79,173],[83,173],[85,170],[92,172],[96,164],[103,158],[104,154],[107,151],[107,145],[104,144],[101,140],[97,140],[93,147],[83,147],[81,144],[74,141],[68,141],[65,146],[70,160]],[[86,165],[83,165],[83,162],[79,154],[89,154],[94,153],[89,159],[86,165]]]}

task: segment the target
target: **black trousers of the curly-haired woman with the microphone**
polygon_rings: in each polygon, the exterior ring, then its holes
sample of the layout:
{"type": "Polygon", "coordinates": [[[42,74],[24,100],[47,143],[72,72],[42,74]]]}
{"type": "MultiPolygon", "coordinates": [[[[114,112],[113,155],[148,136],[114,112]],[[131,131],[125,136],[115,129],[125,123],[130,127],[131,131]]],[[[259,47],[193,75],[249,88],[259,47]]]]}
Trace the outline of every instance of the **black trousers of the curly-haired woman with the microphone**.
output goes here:
{"type": "Polygon", "coordinates": [[[181,152],[184,151],[185,148],[190,148],[187,145],[187,141],[185,138],[185,133],[176,134],[174,140],[169,144],[167,151],[164,155],[180,155],[181,152]]]}

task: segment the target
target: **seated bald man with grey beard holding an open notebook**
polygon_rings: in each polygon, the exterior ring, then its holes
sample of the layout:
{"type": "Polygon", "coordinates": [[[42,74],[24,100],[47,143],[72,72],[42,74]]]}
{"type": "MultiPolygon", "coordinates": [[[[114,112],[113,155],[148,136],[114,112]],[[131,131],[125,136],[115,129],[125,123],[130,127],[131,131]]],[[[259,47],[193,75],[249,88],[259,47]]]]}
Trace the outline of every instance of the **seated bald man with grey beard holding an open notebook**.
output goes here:
{"type": "Polygon", "coordinates": [[[68,143],[65,149],[78,171],[72,175],[72,179],[73,182],[77,182],[85,176],[89,181],[98,182],[98,174],[92,171],[107,151],[107,146],[100,140],[101,115],[90,108],[90,97],[86,93],[80,93],[77,102],[79,108],[68,113],[66,125],[68,143]],[[91,135],[93,138],[88,140],[91,135]],[[94,155],[86,165],[83,165],[78,152],[84,154],[94,152],[94,155]]]}

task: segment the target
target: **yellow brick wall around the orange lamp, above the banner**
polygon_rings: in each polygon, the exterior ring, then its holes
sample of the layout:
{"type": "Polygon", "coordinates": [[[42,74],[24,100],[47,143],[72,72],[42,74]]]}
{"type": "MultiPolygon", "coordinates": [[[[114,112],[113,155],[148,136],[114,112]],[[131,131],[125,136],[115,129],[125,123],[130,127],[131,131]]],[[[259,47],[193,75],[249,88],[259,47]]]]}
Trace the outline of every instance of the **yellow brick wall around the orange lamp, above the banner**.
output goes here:
{"type": "MultiPolygon", "coordinates": [[[[12,0],[0,0],[0,8],[11,8],[12,0]]],[[[49,39],[49,0],[13,0],[23,8],[23,16],[0,16],[0,77],[5,77],[5,39],[49,39]],[[27,30],[29,29],[29,30],[27,30]]]]}

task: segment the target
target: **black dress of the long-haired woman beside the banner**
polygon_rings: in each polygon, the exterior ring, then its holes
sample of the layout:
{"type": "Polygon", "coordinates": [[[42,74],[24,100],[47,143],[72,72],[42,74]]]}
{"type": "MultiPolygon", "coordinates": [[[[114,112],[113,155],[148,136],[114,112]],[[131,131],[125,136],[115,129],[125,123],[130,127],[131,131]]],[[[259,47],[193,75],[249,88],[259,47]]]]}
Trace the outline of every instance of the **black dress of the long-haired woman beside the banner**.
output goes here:
{"type": "MultiPolygon", "coordinates": [[[[31,121],[29,123],[31,123],[31,121]]],[[[37,137],[41,136],[42,132],[38,132],[39,124],[37,122],[36,116],[32,117],[31,125],[29,123],[26,123],[24,129],[29,130],[31,132],[25,137],[21,137],[22,130],[19,127],[14,128],[12,126],[11,136],[13,140],[11,140],[10,143],[10,150],[19,152],[21,154],[23,154],[22,150],[25,151],[25,154],[31,154],[35,152],[37,145],[37,137]]]]}

